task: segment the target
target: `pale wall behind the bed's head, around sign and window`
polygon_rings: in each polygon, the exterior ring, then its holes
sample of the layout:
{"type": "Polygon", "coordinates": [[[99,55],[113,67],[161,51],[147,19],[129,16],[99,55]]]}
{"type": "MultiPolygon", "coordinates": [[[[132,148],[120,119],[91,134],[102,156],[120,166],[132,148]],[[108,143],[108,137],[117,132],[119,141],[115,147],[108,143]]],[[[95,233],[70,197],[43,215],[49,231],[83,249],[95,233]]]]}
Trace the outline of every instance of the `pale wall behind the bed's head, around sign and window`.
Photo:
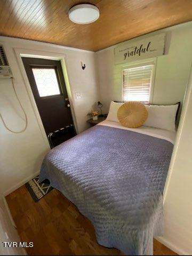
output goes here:
{"type": "MultiPolygon", "coordinates": [[[[192,22],[162,29],[141,36],[148,38],[166,32],[166,55],[157,57],[153,101],[151,103],[176,103],[183,101],[192,55],[192,22]]],[[[138,38],[131,39],[134,42],[138,38]]],[[[121,43],[124,44],[124,43],[121,43]]],[[[97,65],[103,109],[108,111],[111,100],[122,100],[122,68],[115,65],[114,48],[98,51],[97,65]]],[[[130,64],[130,63],[129,63],[130,64]]]]}

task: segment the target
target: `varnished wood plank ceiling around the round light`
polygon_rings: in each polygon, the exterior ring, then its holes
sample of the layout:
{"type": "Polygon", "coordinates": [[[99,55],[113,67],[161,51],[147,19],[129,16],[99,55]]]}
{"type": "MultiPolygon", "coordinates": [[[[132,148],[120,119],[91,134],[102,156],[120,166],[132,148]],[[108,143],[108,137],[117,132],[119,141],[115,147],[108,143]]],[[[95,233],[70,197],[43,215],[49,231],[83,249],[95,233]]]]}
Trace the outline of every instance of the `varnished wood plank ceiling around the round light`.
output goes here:
{"type": "Polygon", "coordinates": [[[192,0],[90,0],[100,18],[68,18],[77,0],[0,0],[0,35],[98,51],[151,31],[192,20],[192,0]]]}

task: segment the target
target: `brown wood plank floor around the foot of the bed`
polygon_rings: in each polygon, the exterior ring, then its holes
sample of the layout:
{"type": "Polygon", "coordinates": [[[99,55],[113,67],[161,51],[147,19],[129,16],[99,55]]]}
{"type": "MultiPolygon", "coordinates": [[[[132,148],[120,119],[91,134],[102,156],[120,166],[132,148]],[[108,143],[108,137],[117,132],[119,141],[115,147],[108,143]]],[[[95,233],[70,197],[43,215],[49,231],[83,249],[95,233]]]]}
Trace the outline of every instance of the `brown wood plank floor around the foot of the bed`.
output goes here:
{"type": "MultiPolygon", "coordinates": [[[[25,186],[6,196],[23,242],[33,242],[29,255],[121,255],[100,246],[91,222],[76,206],[53,189],[35,203],[25,186]]],[[[154,240],[154,255],[177,255],[154,240]]]]}

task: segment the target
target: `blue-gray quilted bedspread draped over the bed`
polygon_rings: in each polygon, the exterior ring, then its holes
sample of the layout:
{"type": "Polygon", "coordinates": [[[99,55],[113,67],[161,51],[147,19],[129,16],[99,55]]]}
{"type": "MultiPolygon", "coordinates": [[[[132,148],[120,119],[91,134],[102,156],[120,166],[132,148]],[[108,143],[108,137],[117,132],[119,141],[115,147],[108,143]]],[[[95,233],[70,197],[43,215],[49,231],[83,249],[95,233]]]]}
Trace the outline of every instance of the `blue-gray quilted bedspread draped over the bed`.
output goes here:
{"type": "Polygon", "coordinates": [[[52,149],[40,180],[49,179],[91,220],[99,244],[151,255],[163,231],[172,149],[163,139],[98,125],[52,149]]]}

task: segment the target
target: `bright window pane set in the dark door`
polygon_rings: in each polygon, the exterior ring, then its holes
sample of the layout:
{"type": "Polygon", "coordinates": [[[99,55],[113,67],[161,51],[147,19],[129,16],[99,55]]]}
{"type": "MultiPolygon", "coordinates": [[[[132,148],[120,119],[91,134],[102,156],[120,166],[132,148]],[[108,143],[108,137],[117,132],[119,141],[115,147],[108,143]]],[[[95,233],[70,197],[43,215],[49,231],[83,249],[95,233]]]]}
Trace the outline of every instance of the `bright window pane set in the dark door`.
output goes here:
{"type": "Polygon", "coordinates": [[[40,97],[60,94],[54,68],[32,68],[40,97]]]}

